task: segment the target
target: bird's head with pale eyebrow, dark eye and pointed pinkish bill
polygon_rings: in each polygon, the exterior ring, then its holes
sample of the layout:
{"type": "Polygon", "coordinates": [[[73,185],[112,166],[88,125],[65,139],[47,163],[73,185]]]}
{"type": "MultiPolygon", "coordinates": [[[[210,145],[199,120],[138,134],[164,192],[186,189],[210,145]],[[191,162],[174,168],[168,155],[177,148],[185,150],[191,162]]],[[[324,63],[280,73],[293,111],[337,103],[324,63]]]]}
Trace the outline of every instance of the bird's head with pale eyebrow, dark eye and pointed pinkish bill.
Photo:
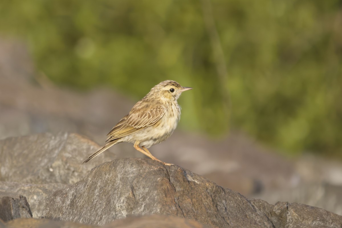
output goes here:
{"type": "Polygon", "coordinates": [[[183,87],[176,81],[166,80],[154,86],[151,89],[151,92],[159,93],[163,98],[169,100],[177,100],[181,96],[182,92],[187,90],[192,90],[192,88],[183,87]]]}

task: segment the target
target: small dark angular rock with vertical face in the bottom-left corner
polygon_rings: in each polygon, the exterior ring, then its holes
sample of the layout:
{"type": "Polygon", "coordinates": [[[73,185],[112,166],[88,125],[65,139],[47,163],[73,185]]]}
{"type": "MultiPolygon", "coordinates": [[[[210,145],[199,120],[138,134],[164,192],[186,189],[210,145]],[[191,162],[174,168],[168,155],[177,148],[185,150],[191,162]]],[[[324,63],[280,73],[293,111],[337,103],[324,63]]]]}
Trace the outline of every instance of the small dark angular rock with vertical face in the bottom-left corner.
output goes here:
{"type": "Polygon", "coordinates": [[[0,192],[0,219],[30,218],[32,213],[26,198],[10,192],[0,192]]]}

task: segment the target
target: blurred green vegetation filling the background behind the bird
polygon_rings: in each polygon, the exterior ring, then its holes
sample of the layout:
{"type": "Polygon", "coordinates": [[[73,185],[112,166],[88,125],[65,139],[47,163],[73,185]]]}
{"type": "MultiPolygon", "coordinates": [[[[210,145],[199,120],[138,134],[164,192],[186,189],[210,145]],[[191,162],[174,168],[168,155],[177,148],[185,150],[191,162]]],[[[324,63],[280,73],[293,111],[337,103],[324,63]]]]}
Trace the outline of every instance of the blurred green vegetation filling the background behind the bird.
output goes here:
{"type": "Polygon", "coordinates": [[[57,84],[137,100],[173,79],[194,88],[183,128],[342,157],[341,0],[2,0],[0,14],[57,84]]]}

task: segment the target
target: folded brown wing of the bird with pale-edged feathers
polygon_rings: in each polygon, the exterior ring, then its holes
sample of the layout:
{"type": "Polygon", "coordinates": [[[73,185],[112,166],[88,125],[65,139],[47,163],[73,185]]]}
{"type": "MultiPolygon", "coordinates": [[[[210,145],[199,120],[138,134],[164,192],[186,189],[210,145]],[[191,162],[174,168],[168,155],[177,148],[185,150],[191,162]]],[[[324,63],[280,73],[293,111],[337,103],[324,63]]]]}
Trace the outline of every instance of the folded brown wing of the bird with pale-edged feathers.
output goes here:
{"type": "Polygon", "coordinates": [[[165,114],[165,108],[157,105],[154,108],[133,107],[131,112],[123,117],[108,133],[106,142],[130,135],[155,124],[165,114]]]}

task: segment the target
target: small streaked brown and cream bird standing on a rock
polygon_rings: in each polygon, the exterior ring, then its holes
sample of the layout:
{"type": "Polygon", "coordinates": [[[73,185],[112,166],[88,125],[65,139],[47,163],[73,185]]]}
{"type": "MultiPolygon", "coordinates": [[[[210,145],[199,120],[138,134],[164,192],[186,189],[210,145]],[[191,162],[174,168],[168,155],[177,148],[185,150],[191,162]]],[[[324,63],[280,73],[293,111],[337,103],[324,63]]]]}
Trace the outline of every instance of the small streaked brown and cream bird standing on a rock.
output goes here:
{"type": "Polygon", "coordinates": [[[151,159],[165,165],[172,165],[154,157],[147,148],[164,142],[170,137],[181,117],[181,107],[177,100],[182,92],[192,89],[183,87],[172,80],[162,81],[155,85],[107,134],[106,144],[90,155],[82,164],[111,146],[128,142],[133,143],[136,150],[151,159]]]}

